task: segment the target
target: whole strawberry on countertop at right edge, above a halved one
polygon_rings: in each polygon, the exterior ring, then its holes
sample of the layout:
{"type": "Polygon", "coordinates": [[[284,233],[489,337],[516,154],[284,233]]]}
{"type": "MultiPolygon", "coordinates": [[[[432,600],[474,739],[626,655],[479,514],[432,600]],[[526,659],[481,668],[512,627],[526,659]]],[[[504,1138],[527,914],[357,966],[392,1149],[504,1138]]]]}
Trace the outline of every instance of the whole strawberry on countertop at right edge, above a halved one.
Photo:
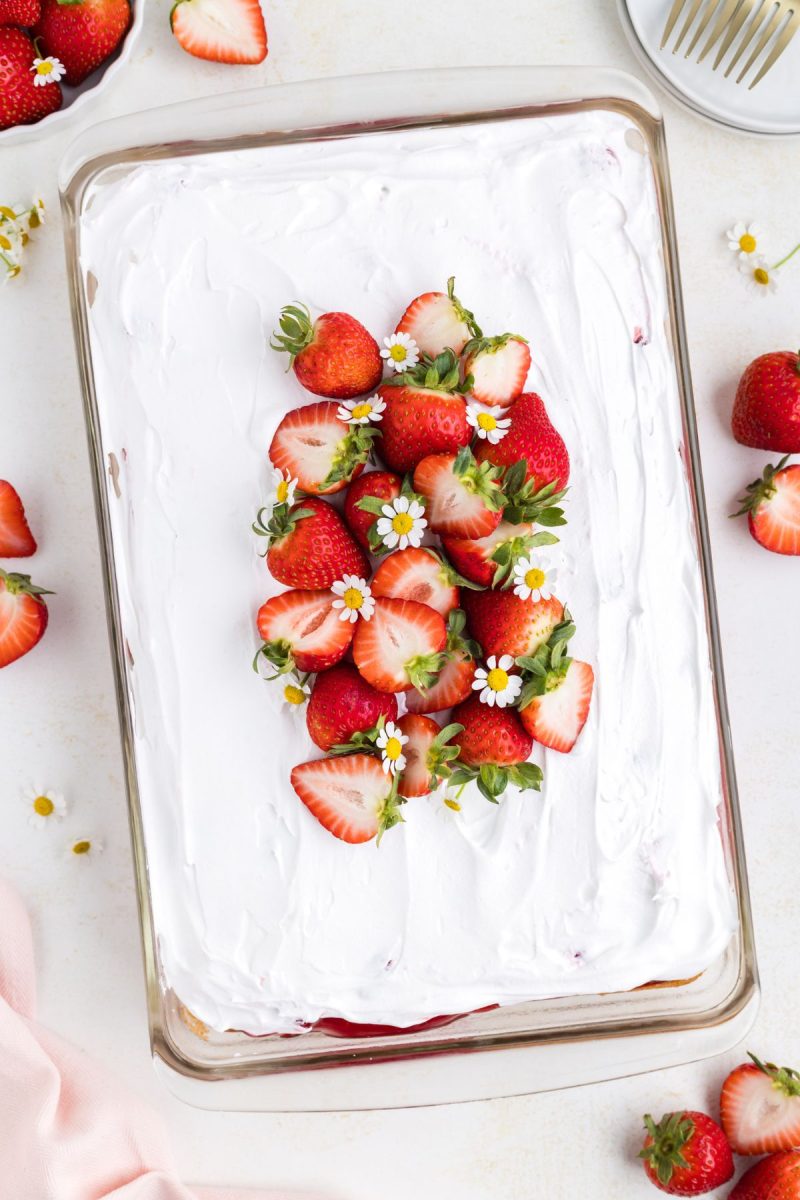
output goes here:
{"type": "Polygon", "coordinates": [[[736,388],[732,426],[742,445],[800,454],[800,354],[777,350],[750,364],[736,388]]]}

